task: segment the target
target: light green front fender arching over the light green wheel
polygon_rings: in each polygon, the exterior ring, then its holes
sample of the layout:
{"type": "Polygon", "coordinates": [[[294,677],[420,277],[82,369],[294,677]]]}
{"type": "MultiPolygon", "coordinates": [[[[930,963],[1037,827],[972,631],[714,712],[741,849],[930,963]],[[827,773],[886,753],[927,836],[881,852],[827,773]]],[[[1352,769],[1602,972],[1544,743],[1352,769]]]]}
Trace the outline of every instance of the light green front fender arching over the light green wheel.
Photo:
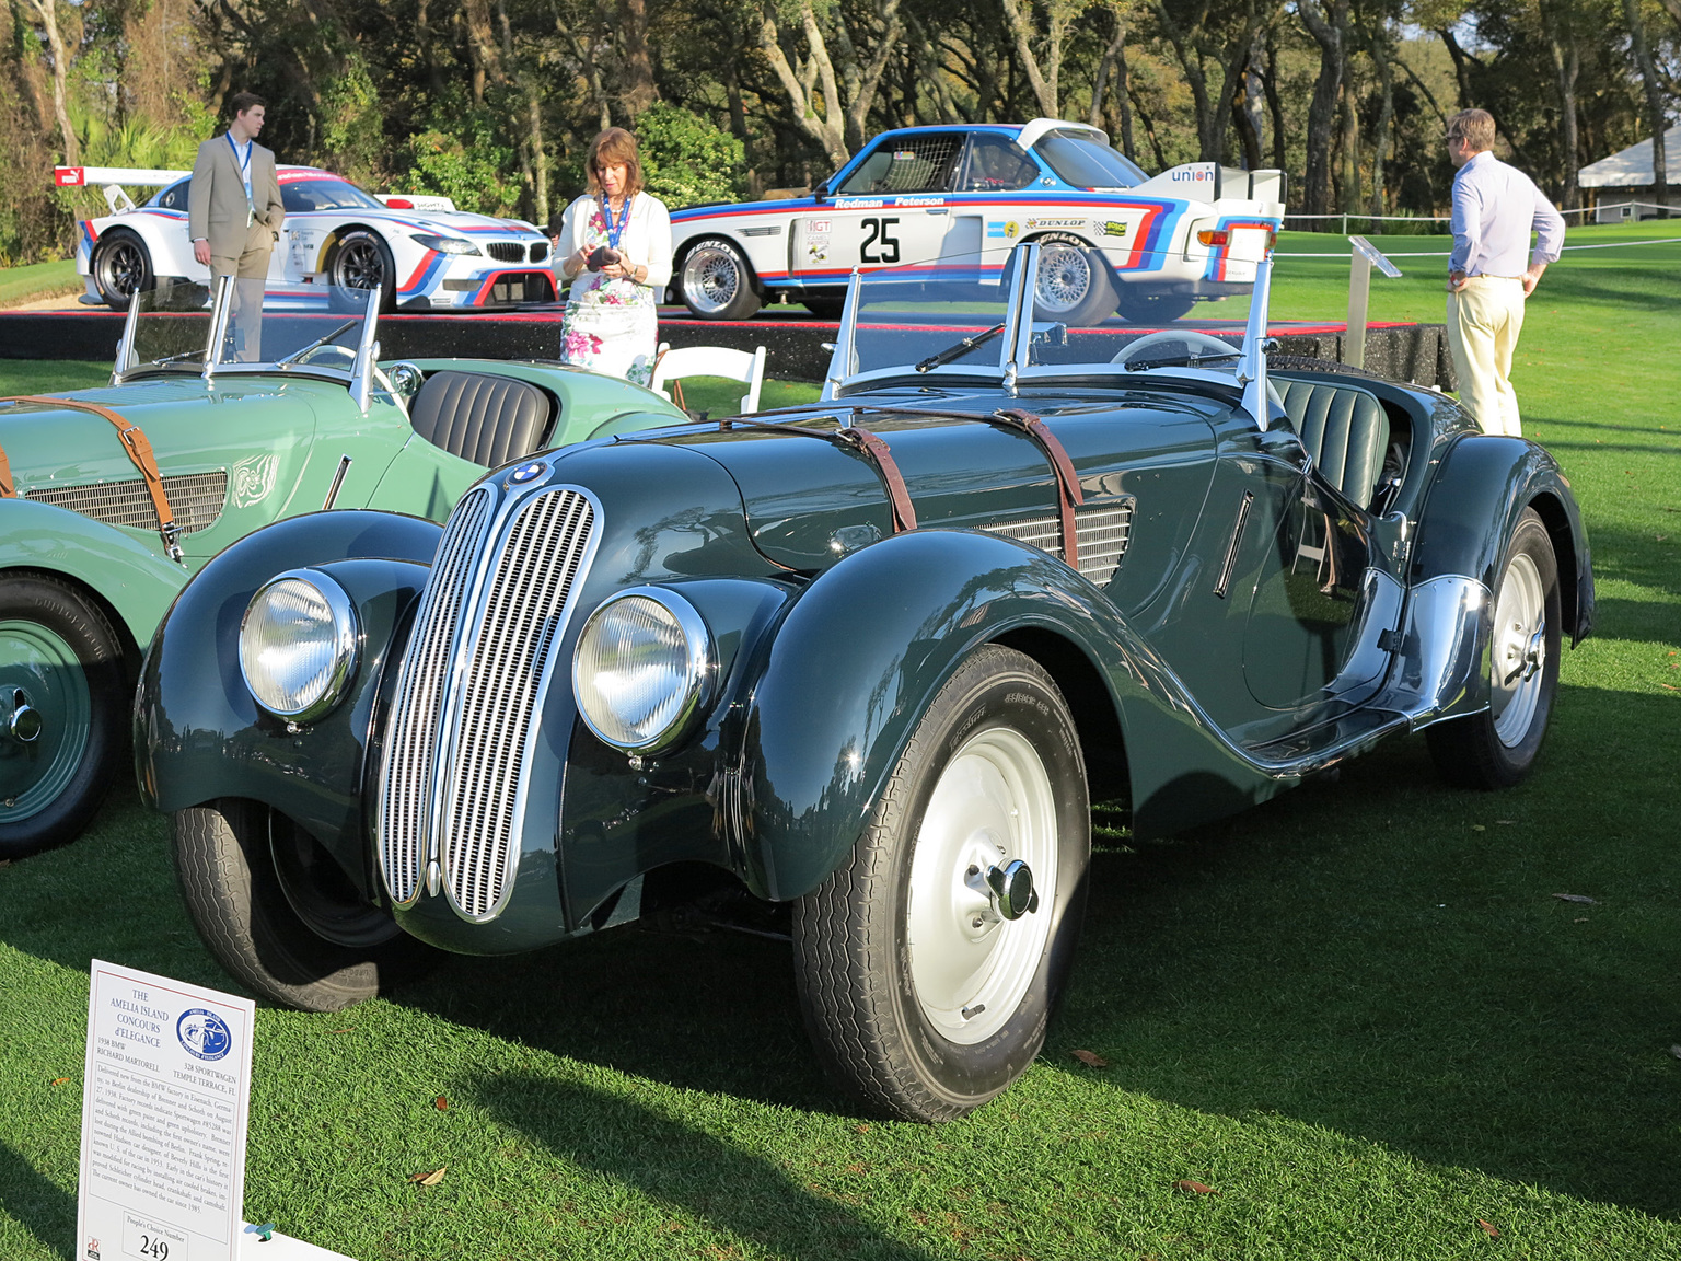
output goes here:
{"type": "Polygon", "coordinates": [[[134,636],[151,641],[187,570],[161,553],[161,541],[114,530],[67,508],[32,499],[0,499],[0,572],[57,573],[97,592],[134,636]]]}

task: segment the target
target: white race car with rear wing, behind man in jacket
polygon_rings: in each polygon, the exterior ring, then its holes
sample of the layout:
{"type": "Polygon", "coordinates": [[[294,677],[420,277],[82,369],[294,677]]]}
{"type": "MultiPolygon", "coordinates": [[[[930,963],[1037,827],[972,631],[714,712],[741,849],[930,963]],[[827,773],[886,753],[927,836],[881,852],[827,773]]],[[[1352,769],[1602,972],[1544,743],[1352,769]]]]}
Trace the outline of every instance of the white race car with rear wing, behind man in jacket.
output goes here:
{"type": "MultiPolygon", "coordinates": [[[[57,166],[61,187],[104,185],[111,214],[79,224],[76,271],[87,303],[128,309],[158,277],[210,282],[187,239],[192,171],[57,166]],[[123,192],[161,187],[141,205],[123,192]]],[[[314,166],[277,170],[286,224],[266,304],[309,304],[306,286],[382,289],[383,308],[435,311],[555,299],[548,237],[531,224],[456,210],[445,197],[365,193],[314,166]]]]}

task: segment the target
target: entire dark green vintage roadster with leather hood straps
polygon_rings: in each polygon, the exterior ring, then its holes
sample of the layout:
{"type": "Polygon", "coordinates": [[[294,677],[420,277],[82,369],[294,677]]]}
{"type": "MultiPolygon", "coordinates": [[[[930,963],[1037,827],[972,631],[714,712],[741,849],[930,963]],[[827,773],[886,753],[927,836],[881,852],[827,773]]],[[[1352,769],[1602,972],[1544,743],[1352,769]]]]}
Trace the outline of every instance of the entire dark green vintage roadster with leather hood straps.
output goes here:
{"type": "Polygon", "coordinates": [[[331,1009],[425,947],[780,925],[835,1081],[936,1121],[1044,1041],[1093,799],[1172,832],[1419,730],[1523,778],[1594,614],[1565,479],[1269,365],[1247,247],[1167,326],[1042,318],[1035,244],[854,277],[817,405],[224,551],[136,701],[210,950],[331,1009]]]}

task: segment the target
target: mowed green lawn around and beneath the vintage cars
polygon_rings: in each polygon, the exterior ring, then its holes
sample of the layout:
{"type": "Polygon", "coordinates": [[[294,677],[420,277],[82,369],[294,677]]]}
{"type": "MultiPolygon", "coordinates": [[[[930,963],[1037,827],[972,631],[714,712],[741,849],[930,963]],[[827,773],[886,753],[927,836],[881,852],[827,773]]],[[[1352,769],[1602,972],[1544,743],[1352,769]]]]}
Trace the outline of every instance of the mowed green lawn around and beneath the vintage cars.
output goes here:
{"type": "MultiPolygon", "coordinates": [[[[1281,314],[1340,318],[1346,264],[1288,257],[1336,242],[1281,242],[1281,314]]],[[[1446,261],[1399,262],[1372,318],[1439,321],[1446,261]]],[[[1567,254],[1530,303],[1526,427],[1600,600],[1521,789],[1447,790],[1402,740],[1172,842],[1111,837],[1044,1056],[941,1128],[830,1091],[773,942],[625,930],[262,1009],[245,1216],[361,1261],[1681,1258],[1678,340],[1681,244],[1567,254]]],[[[91,957],[232,989],[128,785],[0,869],[7,1261],[79,1256],[91,957]]]]}

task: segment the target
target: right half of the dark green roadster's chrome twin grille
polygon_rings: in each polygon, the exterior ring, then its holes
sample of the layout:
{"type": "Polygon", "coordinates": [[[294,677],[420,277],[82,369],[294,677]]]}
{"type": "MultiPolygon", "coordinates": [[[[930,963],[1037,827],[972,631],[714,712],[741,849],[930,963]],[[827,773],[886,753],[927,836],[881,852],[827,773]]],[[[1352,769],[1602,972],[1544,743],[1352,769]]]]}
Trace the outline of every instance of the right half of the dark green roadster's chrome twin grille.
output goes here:
{"type": "Polygon", "coordinates": [[[442,794],[444,888],[471,918],[498,911],[518,859],[519,785],[538,693],[593,525],[588,499],[551,489],[518,509],[486,583],[477,641],[451,698],[454,775],[442,794]]]}

